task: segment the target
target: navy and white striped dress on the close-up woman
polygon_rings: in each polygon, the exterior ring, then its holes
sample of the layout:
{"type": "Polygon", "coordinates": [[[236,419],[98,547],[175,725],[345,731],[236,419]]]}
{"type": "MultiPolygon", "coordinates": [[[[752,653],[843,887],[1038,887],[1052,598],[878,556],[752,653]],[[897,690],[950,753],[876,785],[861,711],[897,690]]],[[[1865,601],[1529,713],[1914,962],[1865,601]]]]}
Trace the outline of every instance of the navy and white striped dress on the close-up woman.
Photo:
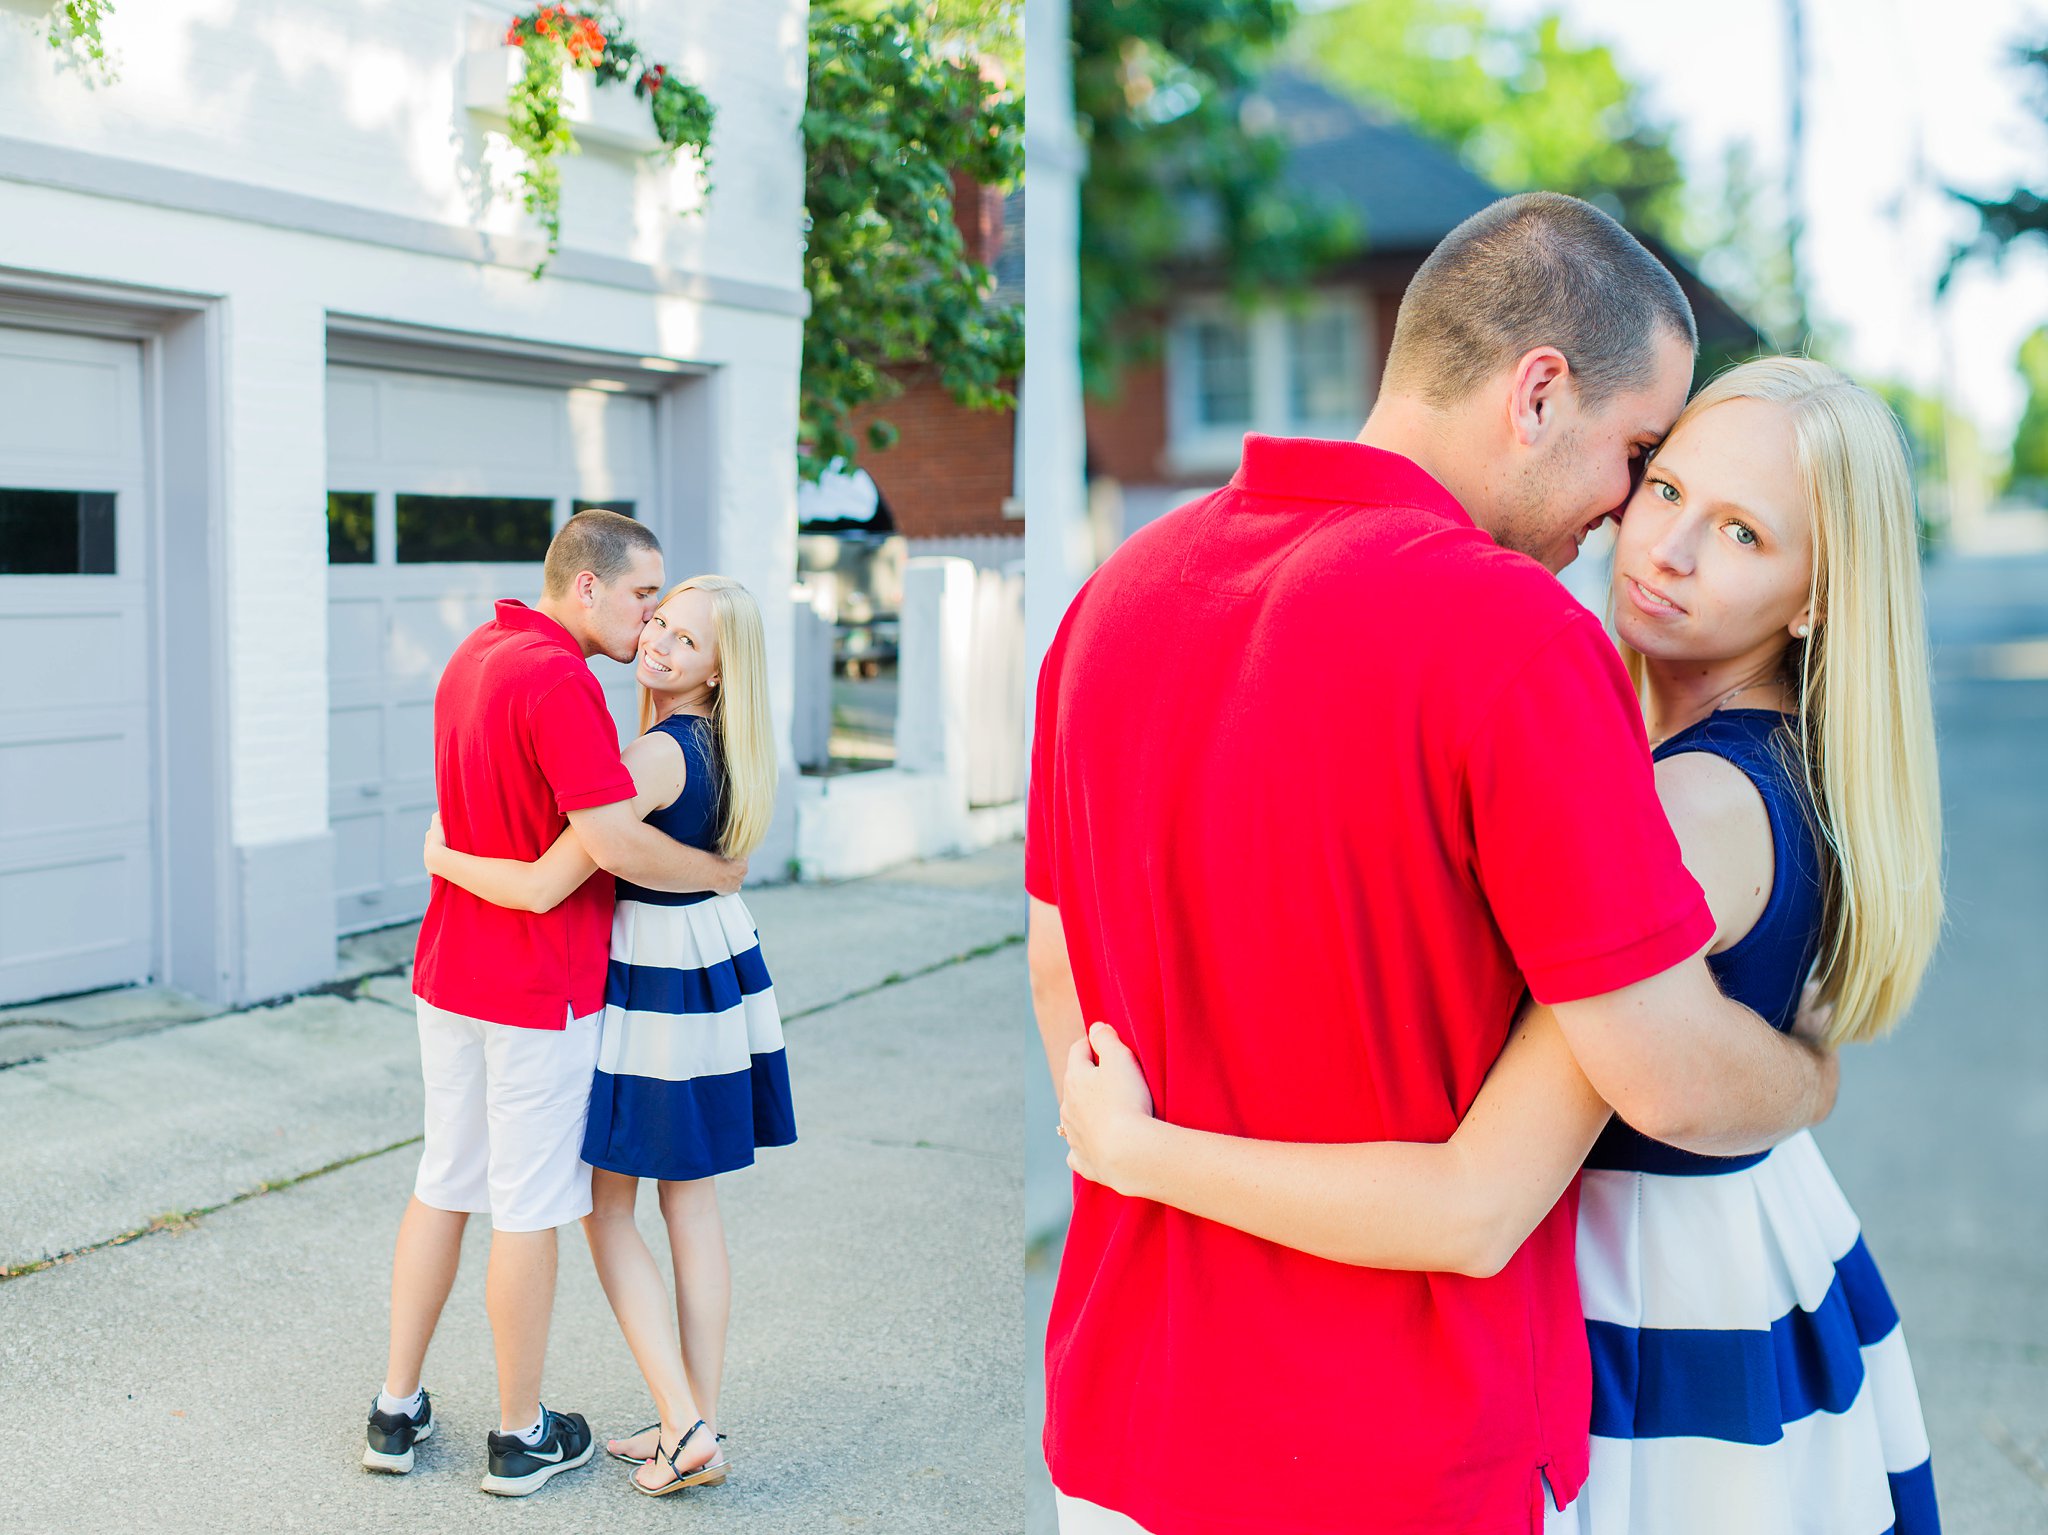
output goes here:
{"type": "MultiPolygon", "coordinates": [[[[1821,937],[1821,858],[1788,716],[1710,714],[1706,751],[1763,796],[1776,878],[1708,960],[1786,1029],[1821,937]]],[[[1593,1461],[1546,1535],[1935,1535],[1933,1472],[1898,1312],[1812,1136],[1694,1156],[1618,1120],[1579,1191],[1593,1461]]]]}

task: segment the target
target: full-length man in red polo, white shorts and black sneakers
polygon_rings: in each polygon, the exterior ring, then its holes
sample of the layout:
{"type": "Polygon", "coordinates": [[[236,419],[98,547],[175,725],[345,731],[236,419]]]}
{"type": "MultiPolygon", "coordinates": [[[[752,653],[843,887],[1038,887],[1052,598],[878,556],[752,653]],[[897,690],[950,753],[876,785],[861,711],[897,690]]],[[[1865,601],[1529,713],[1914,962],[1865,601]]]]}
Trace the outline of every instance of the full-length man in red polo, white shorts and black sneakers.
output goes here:
{"type": "Polygon", "coordinates": [[[410,1472],[434,1431],[420,1367],[455,1283],[463,1226],[492,1216],[485,1304],[498,1433],[485,1492],[526,1494],[590,1459],[590,1424],[541,1406],[555,1306],[555,1228],[590,1214],[582,1158],[598,1060],[612,876],[737,890],[745,864],[641,821],[592,655],[631,661],[662,594],[662,546],[614,512],[580,512],[547,551],[537,608],[500,602],[434,694],[434,794],[446,839],[535,860],[573,825],[600,872],[547,913],[506,911],[434,880],[414,993],[426,1136],[391,1261],[391,1357],[362,1465],[410,1472]]]}

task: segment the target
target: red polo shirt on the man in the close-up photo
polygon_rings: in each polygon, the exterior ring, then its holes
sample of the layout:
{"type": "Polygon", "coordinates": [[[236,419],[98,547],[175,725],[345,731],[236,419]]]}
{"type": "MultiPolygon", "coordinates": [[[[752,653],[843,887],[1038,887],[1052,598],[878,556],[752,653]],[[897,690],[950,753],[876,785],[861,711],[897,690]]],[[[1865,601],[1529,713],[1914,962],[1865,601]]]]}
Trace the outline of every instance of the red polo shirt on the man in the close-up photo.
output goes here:
{"type": "MultiPolygon", "coordinates": [[[[1407,458],[1247,438],[1081,589],[1038,679],[1026,884],[1159,1113],[1444,1140],[1524,986],[1712,919],[1599,624],[1407,458]]],[[[1075,1179],[1047,1459],[1155,1535],[1526,1535],[1585,1480],[1567,1197],[1493,1279],[1358,1269],[1075,1179]]]]}

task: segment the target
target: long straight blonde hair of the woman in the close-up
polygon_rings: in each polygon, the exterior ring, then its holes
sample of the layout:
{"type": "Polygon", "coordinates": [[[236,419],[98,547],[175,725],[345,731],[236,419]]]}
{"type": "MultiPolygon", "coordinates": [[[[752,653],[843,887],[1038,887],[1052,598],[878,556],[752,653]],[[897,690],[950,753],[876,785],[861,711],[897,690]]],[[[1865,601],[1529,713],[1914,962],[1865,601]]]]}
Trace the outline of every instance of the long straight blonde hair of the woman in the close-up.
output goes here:
{"type": "MultiPolygon", "coordinates": [[[[1812,637],[1792,641],[1798,753],[1823,837],[1815,976],[1829,1044],[1872,1040],[1905,1015],[1942,935],[1942,788],[1921,614],[1919,522],[1898,420],[1835,368],[1794,356],[1741,362],[1673,424],[1731,399],[1784,405],[1812,512],[1812,637]]],[[[1622,647],[1642,690],[1642,655],[1622,647]]]]}

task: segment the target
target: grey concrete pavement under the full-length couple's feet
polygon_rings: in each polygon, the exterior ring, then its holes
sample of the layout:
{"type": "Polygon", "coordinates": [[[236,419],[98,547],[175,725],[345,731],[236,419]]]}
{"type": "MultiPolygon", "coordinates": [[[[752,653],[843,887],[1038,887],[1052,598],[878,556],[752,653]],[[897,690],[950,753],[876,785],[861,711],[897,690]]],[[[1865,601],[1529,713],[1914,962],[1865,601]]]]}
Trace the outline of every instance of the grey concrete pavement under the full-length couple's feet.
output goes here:
{"type": "MultiPolygon", "coordinates": [[[[496,1427],[483,1222],[428,1357],[438,1435],[408,1478],[358,1470],[420,1130],[401,972],[219,1017],[102,1001],[98,1023],[43,1009],[59,1015],[0,1027],[4,1042],[33,1023],[45,1052],[0,1070],[0,1265],[31,1269],[0,1283],[10,1523],[1020,1529],[1020,886],[1006,845],[748,892],[801,1140],[721,1179],[735,1470],[668,1500],[602,1455],[528,1500],[477,1492],[496,1427]]],[[[352,950],[375,968],[406,946],[352,950]]],[[[666,1263],[651,1195],[641,1212],[666,1263]]],[[[575,1230],[547,1398],[598,1435],[651,1416],[575,1230]]]]}

